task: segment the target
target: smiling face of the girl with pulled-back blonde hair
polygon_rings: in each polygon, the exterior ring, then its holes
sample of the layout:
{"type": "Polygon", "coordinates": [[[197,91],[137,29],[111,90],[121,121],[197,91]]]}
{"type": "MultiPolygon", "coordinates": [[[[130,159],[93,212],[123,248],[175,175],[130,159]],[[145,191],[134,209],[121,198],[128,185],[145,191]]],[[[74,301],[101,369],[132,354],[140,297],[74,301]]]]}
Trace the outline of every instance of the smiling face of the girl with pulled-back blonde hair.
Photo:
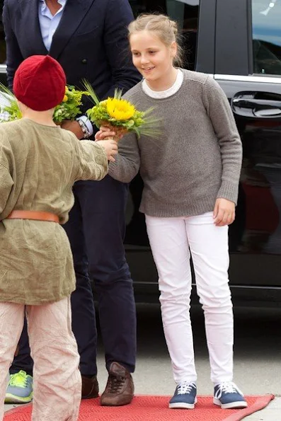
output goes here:
{"type": "Polygon", "coordinates": [[[173,58],[176,56],[176,42],[167,47],[156,33],[143,30],[130,35],[130,47],[134,66],[149,86],[154,89],[161,86],[168,88],[166,85],[175,71],[173,58]]]}

